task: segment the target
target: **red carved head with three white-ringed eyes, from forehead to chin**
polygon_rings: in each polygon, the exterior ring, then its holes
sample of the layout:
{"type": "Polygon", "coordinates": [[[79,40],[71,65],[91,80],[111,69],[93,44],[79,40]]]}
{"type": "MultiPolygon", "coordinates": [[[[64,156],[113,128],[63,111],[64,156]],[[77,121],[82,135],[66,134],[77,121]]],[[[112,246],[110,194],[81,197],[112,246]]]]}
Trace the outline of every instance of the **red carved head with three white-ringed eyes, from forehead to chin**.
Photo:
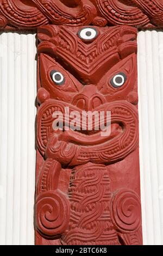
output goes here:
{"type": "MultiPolygon", "coordinates": [[[[114,163],[138,145],[136,29],[45,26],[39,29],[41,88],[37,144],[45,158],[64,166],[87,162],[114,163]],[[111,112],[111,132],[101,136],[87,119],[67,130],[65,107],[80,113],[111,112]],[[54,131],[54,111],[64,130],[54,131]],[[82,130],[84,125],[85,130],[82,130]]],[[[104,117],[104,123],[106,123],[104,117]]]]}

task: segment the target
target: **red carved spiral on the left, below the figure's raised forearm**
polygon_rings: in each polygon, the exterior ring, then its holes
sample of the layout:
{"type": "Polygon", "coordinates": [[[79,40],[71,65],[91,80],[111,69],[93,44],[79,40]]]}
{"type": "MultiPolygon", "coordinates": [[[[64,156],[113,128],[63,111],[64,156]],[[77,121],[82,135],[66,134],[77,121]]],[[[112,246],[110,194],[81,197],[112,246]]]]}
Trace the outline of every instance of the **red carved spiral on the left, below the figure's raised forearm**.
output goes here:
{"type": "Polygon", "coordinates": [[[55,239],[64,233],[69,216],[70,206],[61,191],[46,191],[37,197],[36,228],[43,237],[55,239]]]}

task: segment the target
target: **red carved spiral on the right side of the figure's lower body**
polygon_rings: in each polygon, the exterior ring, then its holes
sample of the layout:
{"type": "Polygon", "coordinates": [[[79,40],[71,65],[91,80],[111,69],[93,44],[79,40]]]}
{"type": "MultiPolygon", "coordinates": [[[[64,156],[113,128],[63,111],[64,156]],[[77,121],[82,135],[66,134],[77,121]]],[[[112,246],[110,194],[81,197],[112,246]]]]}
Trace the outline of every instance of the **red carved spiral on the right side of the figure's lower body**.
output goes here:
{"type": "Polygon", "coordinates": [[[118,231],[137,230],[141,224],[139,196],[132,190],[118,190],[111,201],[111,217],[118,231]]]}

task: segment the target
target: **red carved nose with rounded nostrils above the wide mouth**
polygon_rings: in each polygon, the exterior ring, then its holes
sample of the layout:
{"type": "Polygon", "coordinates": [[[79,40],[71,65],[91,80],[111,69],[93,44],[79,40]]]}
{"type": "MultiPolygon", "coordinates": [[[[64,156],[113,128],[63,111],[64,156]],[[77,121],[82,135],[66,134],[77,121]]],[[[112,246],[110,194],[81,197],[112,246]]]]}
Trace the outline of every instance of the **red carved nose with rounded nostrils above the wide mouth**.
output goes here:
{"type": "Polygon", "coordinates": [[[85,111],[92,111],[93,109],[105,103],[104,96],[99,94],[94,85],[87,85],[83,91],[77,94],[73,99],[73,105],[85,111]]]}

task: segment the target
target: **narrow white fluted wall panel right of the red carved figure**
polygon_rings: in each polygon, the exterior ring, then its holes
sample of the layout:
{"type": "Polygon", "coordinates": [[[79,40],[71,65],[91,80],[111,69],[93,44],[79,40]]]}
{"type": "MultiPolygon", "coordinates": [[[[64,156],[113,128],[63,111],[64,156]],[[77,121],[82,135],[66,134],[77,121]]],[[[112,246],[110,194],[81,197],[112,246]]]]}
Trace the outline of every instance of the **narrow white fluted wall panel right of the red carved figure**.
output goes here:
{"type": "Polygon", "coordinates": [[[143,244],[163,245],[163,32],[139,32],[143,244]]]}

